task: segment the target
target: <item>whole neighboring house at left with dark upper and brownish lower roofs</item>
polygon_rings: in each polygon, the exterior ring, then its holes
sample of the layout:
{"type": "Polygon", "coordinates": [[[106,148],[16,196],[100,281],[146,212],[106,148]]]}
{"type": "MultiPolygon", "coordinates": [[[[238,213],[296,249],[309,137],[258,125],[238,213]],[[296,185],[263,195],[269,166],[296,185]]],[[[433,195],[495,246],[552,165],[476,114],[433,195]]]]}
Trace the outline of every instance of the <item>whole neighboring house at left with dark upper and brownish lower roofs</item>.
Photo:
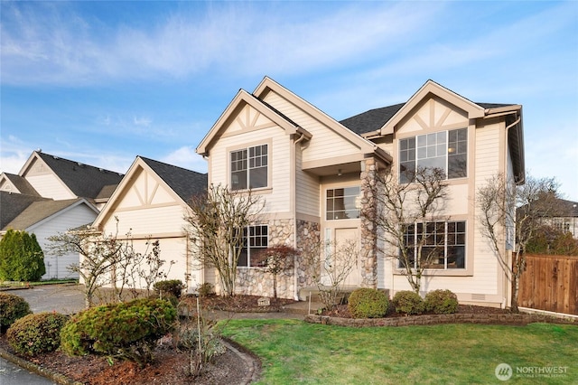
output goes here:
{"type": "Polygon", "coordinates": [[[0,174],[0,238],[8,229],[33,232],[44,251],[46,274],[42,279],[78,278],[67,267],[78,263],[79,256],[51,255],[47,238],[94,221],[122,176],[33,151],[20,173],[0,174]]]}

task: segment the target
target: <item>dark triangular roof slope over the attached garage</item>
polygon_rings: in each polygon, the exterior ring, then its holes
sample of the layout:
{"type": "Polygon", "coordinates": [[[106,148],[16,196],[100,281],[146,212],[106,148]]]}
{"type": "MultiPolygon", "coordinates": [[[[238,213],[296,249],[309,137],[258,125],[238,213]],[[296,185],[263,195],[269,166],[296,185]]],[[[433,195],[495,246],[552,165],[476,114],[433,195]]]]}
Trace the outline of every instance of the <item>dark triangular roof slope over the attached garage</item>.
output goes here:
{"type": "Polygon", "coordinates": [[[200,194],[207,190],[207,174],[200,174],[196,171],[165,164],[153,159],[139,156],[145,164],[148,164],[164,183],[176,192],[183,202],[189,202],[193,195],[200,194]]]}

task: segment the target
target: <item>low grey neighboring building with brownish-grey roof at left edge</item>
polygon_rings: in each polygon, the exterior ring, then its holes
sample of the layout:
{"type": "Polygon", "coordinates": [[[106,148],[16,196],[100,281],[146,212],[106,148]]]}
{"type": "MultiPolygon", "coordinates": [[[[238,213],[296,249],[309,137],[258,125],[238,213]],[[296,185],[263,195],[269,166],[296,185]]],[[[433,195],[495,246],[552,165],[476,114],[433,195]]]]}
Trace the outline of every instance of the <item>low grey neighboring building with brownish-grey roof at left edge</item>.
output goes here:
{"type": "Polygon", "coordinates": [[[44,252],[46,273],[42,279],[78,278],[68,267],[79,263],[78,254],[61,257],[48,251],[49,237],[93,221],[98,209],[84,198],[54,201],[38,196],[0,191],[0,235],[6,230],[25,230],[36,235],[44,252]]]}

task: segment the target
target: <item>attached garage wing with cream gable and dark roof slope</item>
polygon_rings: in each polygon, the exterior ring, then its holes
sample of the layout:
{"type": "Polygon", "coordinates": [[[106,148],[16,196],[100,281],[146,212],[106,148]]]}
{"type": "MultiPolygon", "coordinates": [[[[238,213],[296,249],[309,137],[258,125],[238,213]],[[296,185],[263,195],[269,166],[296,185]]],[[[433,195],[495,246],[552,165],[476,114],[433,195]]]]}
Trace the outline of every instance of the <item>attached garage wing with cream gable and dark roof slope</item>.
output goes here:
{"type": "MultiPolygon", "coordinates": [[[[214,281],[195,263],[198,259],[191,255],[184,221],[191,197],[206,189],[207,174],[137,156],[92,227],[106,236],[132,241],[139,253],[150,251],[146,243],[158,239],[167,279],[180,279],[194,289],[214,281]]],[[[144,282],[134,286],[145,287],[144,282]]]]}

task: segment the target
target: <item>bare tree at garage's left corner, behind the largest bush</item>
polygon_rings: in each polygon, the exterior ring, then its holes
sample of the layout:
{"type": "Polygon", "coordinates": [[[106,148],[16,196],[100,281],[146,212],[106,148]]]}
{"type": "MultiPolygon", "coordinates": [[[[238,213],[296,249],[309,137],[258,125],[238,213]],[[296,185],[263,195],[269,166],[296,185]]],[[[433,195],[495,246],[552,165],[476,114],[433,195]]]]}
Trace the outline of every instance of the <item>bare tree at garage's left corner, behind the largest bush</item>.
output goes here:
{"type": "Polygon", "coordinates": [[[57,256],[79,254],[79,263],[70,265],[69,269],[79,274],[85,287],[85,306],[91,307],[98,288],[112,283],[114,269],[123,258],[117,235],[106,236],[87,227],[58,233],[49,240],[49,249],[57,256]]]}

